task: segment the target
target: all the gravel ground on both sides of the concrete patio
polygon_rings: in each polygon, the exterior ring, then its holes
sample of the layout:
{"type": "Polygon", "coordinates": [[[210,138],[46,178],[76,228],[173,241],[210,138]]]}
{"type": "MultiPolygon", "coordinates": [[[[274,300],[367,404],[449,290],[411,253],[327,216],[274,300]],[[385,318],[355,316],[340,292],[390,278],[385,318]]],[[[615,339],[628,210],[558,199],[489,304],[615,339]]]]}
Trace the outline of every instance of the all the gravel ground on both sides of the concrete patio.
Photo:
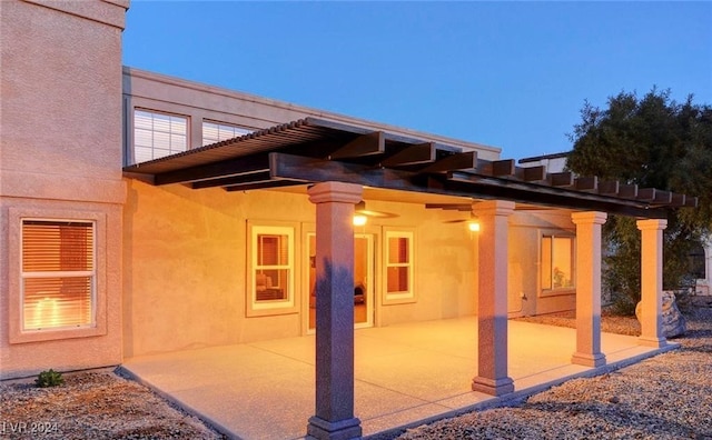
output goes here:
{"type": "MultiPolygon", "coordinates": [[[[572,316],[527,319],[573,326],[572,316]]],[[[604,331],[639,334],[635,318],[604,331]]],[[[512,403],[411,429],[398,439],[712,440],[712,301],[689,316],[682,349],[512,403]]],[[[220,439],[200,420],[111,371],[65,374],[57,388],[0,383],[0,439],[220,439]]],[[[380,437],[383,438],[383,437],[380,437]]]]}

